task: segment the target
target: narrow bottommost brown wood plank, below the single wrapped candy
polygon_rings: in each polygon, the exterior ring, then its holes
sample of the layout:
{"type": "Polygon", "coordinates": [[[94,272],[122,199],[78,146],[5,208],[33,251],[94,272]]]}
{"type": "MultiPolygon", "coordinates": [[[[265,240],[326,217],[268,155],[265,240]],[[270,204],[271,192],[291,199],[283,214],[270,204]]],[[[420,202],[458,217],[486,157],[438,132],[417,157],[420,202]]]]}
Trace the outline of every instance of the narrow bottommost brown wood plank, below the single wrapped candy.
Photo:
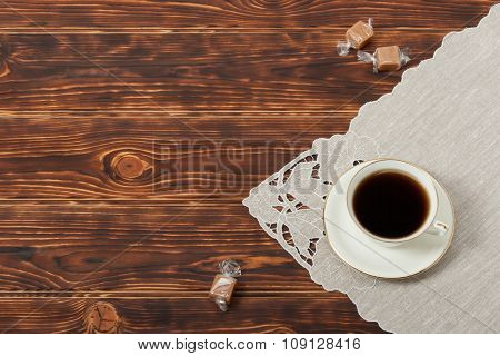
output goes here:
{"type": "Polygon", "coordinates": [[[233,299],[221,313],[208,298],[1,298],[0,332],[82,333],[89,308],[110,303],[123,333],[381,333],[343,296],[233,299]]]}

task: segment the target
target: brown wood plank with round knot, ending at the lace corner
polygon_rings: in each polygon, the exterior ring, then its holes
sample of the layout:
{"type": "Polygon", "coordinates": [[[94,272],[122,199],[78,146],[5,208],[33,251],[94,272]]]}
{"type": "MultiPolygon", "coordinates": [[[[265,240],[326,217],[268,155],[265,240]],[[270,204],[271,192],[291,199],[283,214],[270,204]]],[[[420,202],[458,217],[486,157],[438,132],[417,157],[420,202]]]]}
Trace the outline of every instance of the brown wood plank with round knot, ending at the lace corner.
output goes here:
{"type": "Polygon", "coordinates": [[[4,113],[0,200],[150,199],[238,202],[318,137],[344,132],[354,112],[4,113]],[[113,162],[142,159],[121,179],[113,162]]]}

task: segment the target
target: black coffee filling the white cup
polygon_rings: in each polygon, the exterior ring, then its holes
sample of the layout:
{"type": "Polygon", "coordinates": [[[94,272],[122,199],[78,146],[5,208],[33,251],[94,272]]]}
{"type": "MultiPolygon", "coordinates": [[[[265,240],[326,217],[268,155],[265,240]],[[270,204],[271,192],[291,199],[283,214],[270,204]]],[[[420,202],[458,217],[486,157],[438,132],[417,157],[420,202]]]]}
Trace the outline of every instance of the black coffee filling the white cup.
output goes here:
{"type": "Polygon", "coordinates": [[[364,178],[353,195],[359,224],[383,238],[402,238],[417,231],[429,214],[429,197],[412,177],[379,171],[364,178]]]}

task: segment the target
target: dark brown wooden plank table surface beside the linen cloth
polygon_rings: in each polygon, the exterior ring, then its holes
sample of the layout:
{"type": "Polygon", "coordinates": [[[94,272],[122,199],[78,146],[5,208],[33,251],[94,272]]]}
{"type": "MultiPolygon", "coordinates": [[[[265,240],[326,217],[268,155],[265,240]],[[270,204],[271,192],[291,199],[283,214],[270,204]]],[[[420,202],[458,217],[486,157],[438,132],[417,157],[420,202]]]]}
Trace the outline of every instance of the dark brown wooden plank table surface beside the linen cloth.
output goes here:
{"type": "Polygon", "coordinates": [[[400,81],[337,55],[354,21],[416,66],[493,2],[2,0],[0,330],[106,332],[107,303],[124,333],[382,332],[241,200],[400,81]]]}

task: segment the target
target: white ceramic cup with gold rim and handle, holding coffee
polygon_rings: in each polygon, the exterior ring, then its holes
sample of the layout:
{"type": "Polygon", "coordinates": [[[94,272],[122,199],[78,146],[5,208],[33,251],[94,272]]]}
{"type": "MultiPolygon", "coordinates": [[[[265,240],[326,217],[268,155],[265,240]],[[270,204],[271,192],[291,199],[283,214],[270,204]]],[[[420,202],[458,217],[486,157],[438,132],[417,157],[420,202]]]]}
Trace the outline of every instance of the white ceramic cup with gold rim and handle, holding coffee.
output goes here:
{"type": "Polygon", "coordinates": [[[351,179],[347,189],[347,205],[350,218],[354,221],[357,227],[366,235],[369,236],[377,241],[383,245],[400,245],[402,243],[409,241],[411,239],[418,238],[423,234],[433,234],[433,235],[444,235],[449,227],[447,224],[439,221],[436,219],[436,215],[438,212],[438,192],[436,190],[434,181],[432,177],[421,168],[418,168],[413,165],[394,160],[394,159],[379,159],[367,162],[364,167],[362,167],[351,179]],[[426,220],[422,225],[412,234],[400,237],[400,238],[387,238],[383,236],[378,236],[369,230],[367,230],[358,220],[353,209],[353,198],[354,192],[361,181],[366,178],[386,171],[393,171],[407,175],[413,178],[426,191],[429,200],[429,209],[426,220]]]}

